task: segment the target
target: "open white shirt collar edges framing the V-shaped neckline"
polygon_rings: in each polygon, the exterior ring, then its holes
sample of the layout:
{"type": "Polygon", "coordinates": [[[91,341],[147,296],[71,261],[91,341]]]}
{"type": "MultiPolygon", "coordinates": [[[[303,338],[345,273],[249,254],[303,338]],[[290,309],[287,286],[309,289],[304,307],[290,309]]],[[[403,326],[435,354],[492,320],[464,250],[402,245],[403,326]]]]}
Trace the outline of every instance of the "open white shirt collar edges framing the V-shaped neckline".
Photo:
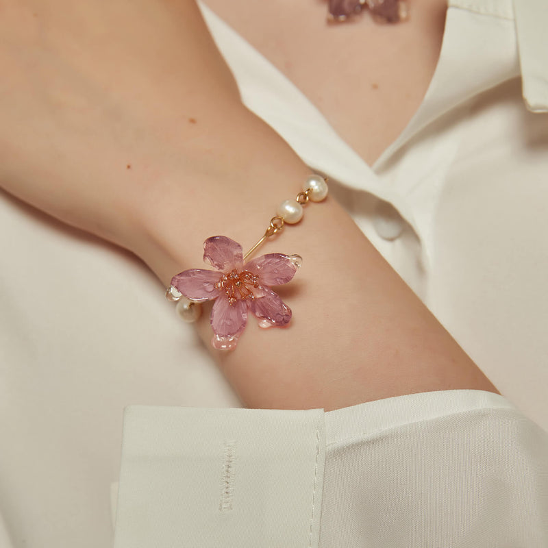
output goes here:
{"type": "Polygon", "coordinates": [[[548,52],[548,33],[543,29],[547,19],[543,14],[548,15],[542,5],[545,1],[448,0],[440,58],[425,99],[373,169],[288,79],[206,5],[199,1],[199,6],[247,107],[284,136],[313,169],[327,175],[337,173],[348,186],[391,201],[390,190],[375,172],[382,171],[386,161],[429,123],[478,93],[519,76],[520,68],[527,105],[535,112],[548,110],[548,62],[543,62],[548,52]]]}

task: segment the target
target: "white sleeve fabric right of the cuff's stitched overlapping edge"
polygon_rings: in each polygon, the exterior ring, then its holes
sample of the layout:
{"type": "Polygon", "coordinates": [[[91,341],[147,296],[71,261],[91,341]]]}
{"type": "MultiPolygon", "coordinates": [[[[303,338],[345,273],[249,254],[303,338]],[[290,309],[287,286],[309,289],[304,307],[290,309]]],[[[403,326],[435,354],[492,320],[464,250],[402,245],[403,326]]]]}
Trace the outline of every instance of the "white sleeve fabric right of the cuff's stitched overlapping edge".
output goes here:
{"type": "Polygon", "coordinates": [[[332,419],[319,546],[548,545],[540,427],[482,392],[391,400],[332,419]]]}

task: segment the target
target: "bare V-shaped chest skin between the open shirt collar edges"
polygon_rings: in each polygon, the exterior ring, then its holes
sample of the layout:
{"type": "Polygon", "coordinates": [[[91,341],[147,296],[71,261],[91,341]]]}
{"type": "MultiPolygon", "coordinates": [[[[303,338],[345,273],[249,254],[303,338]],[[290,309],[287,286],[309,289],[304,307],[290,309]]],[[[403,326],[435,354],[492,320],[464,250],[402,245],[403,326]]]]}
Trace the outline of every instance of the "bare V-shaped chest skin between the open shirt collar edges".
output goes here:
{"type": "Polygon", "coordinates": [[[327,23],[317,0],[208,0],[216,12],[314,103],[373,164],[421,104],[440,52],[445,0],[414,0],[410,20],[368,13],[327,23]]]}

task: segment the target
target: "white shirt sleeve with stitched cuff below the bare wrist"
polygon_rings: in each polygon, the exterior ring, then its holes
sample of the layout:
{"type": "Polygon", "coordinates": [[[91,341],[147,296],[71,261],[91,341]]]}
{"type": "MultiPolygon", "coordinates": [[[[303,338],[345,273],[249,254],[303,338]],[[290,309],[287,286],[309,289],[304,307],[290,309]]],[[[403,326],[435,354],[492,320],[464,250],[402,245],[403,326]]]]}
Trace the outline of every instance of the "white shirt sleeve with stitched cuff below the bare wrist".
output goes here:
{"type": "Polygon", "coordinates": [[[115,548],[547,545],[548,435],[499,395],[126,410],[115,548]]]}

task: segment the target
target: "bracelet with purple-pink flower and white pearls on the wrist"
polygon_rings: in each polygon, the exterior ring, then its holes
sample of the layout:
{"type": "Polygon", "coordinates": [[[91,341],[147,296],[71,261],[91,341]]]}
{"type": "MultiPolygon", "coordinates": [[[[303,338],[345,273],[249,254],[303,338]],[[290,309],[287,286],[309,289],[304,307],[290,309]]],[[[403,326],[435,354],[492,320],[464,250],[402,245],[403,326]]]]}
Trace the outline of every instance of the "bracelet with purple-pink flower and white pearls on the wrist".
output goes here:
{"type": "Polygon", "coordinates": [[[242,246],[227,236],[211,236],[203,242],[203,262],[215,269],[188,269],[171,279],[166,298],[177,302],[177,313],[185,321],[197,321],[199,303],[214,300],[210,323],[211,344],[218,350],[232,350],[247,324],[247,312],[260,327],[285,327],[291,309],[271,289],[290,282],[302,264],[299,255],[268,253],[249,262],[251,254],[266,240],[284,229],[286,223],[298,223],[308,201],[323,201],[327,196],[327,179],[310,175],[295,200],[282,202],[262,238],[243,254],[242,246]]]}

